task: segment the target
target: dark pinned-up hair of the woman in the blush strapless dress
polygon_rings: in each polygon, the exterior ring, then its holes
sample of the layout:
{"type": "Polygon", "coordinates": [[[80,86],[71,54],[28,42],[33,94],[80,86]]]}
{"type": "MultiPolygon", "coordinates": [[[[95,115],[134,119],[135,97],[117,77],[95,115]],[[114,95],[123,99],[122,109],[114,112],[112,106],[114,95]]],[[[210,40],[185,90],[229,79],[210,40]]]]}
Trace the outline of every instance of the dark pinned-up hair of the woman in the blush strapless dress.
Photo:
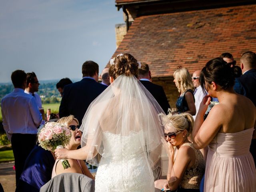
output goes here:
{"type": "Polygon", "coordinates": [[[204,91],[212,82],[215,82],[223,90],[230,89],[235,83],[234,69],[222,58],[212,59],[202,69],[199,82],[204,91]]]}

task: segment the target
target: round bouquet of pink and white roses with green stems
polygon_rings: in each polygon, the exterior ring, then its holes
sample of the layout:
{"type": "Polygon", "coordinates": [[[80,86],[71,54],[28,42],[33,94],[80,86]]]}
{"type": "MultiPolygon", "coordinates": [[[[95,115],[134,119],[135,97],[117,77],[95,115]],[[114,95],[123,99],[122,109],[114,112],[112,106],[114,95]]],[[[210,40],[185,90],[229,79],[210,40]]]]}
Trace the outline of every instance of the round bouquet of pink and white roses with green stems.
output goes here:
{"type": "MultiPolygon", "coordinates": [[[[64,125],[56,122],[48,122],[38,132],[39,146],[45,150],[54,152],[56,148],[63,148],[69,144],[71,131],[64,125]]],[[[70,168],[68,160],[61,160],[64,169],[70,168]]]]}

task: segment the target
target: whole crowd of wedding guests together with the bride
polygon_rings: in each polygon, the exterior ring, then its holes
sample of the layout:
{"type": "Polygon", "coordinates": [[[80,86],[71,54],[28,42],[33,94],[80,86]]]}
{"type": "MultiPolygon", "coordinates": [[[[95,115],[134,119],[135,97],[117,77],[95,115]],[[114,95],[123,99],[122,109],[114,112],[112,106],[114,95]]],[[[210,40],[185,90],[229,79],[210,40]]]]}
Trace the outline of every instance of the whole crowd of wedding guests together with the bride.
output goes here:
{"type": "Polygon", "coordinates": [[[74,191],[256,191],[254,52],[242,54],[240,67],[232,54],[221,54],[192,76],[178,66],[176,110],[170,110],[162,86],[152,83],[148,64],[130,54],[112,58],[101,83],[93,61],[82,65],[82,75],[79,82],[63,78],[56,84],[62,100],[53,117],[50,109],[45,116],[36,94],[36,74],[12,73],[14,91],[1,107],[16,191],[72,190],[68,182],[80,183],[74,191]],[[212,101],[218,104],[205,118],[212,101]],[[48,121],[71,130],[64,149],[38,146],[38,128],[48,121]],[[71,168],[62,167],[63,159],[71,168]],[[98,166],[95,178],[84,160],[98,166]]]}

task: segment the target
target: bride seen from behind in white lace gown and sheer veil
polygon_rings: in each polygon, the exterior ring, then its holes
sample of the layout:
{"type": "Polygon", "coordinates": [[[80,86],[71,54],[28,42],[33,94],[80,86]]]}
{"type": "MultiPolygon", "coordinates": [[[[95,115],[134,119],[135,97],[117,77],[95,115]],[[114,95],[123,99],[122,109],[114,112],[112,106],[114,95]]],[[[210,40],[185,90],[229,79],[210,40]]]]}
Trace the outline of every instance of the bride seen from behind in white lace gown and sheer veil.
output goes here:
{"type": "Polygon", "coordinates": [[[82,148],[55,150],[58,159],[86,159],[99,166],[96,192],[154,192],[154,174],[166,144],[158,116],[164,112],[136,79],[139,65],[130,54],[110,60],[111,85],[84,115],[82,148]]]}

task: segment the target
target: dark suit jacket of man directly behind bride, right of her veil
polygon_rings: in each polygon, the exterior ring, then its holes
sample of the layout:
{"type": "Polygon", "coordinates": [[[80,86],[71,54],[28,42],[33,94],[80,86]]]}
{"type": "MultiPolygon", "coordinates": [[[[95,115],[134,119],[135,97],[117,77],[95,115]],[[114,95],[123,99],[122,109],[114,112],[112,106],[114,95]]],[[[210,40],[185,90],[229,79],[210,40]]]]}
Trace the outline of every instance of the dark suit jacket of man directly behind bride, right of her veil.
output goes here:
{"type": "Polygon", "coordinates": [[[156,99],[158,104],[161,106],[161,108],[167,114],[168,108],[170,108],[170,105],[167,100],[167,97],[166,97],[163,87],[160,85],[156,85],[150,81],[140,80],[140,82],[152,94],[152,96],[156,99]]]}

